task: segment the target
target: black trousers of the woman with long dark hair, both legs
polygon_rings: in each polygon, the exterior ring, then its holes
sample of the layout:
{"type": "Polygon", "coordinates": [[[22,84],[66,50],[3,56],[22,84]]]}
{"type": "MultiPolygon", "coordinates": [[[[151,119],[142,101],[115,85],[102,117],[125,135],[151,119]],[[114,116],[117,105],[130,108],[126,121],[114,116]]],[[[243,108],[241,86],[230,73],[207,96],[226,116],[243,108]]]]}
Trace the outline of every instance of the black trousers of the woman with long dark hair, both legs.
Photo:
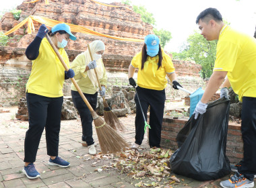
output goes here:
{"type": "MultiPolygon", "coordinates": [[[[142,87],[136,88],[137,95],[139,95],[139,101],[143,113],[147,121],[147,111],[150,105],[150,127],[149,130],[149,141],[150,147],[160,147],[161,142],[161,130],[162,130],[162,119],[164,116],[164,102],[165,102],[165,90],[154,90],[145,89],[142,87]]],[[[141,108],[139,106],[139,101],[135,95],[134,100],[136,103],[136,117],[135,117],[135,143],[141,144],[144,138],[144,126],[145,122],[143,119],[143,114],[141,113],[141,108]]]]}

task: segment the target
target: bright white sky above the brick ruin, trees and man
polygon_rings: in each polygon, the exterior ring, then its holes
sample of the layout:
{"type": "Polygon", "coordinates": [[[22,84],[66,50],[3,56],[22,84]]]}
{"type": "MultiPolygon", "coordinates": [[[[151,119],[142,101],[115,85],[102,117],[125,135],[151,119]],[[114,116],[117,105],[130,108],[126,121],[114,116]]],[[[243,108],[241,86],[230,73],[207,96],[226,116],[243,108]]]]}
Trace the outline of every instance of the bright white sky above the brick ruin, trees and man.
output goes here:
{"type": "MultiPolygon", "coordinates": [[[[5,1],[0,7],[12,9],[23,0],[5,1]]],[[[32,1],[32,0],[28,0],[32,1]]],[[[51,0],[49,0],[51,1],[51,0]]],[[[121,0],[98,0],[102,3],[121,2],[121,0]]],[[[224,20],[232,28],[253,36],[256,26],[256,0],[131,0],[133,5],[143,5],[156,19],[156,28],[168,30],[172,39],[165,46],[168,52],[179,52],[179,47],[187,40],[194,30],[197,15],[208,7],[220,11],[224,20]]]]}

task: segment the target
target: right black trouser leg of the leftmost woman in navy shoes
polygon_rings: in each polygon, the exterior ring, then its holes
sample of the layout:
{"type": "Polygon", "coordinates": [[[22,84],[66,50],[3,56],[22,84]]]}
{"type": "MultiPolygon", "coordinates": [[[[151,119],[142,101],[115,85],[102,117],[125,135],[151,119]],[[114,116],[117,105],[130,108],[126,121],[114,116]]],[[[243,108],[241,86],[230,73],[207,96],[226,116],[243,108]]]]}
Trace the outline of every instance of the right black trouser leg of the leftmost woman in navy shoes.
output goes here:
{"type": "Polygon", "coordinates": [[[58,156],[62,104],[63,97],[56,97],[51,98],[51,102],[48,105],[45,126],[45,138],[47,154],[49,156],[58,156]]]}

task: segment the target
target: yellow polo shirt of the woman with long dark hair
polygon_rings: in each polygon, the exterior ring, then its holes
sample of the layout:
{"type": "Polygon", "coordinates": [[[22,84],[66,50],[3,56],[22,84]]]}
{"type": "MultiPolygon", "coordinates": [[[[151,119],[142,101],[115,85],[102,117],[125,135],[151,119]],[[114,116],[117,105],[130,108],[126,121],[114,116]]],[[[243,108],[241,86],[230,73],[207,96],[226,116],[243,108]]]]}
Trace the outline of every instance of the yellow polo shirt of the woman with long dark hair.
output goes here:
{"type": "Polygon", "coordinates": [[[162,51],[162,66],[158,68],[159,56],[148,56],[141,70],[141,52],[131,60],[131,65],[138,68],[137,85],[146,89],[163,90],[167,86],[167,73],[174,73],[175,68],[172,59],[162,51]],[[157,70],[158,68],[158,70],[157,70]]]}

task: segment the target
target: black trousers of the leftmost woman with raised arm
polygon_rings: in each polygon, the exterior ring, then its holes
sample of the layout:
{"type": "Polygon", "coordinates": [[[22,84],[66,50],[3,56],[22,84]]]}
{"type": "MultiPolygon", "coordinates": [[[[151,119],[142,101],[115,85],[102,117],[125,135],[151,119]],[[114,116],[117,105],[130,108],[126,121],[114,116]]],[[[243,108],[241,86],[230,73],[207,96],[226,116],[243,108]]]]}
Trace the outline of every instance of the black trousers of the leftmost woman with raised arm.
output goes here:
{"type": "Polygon", "coordinates": [[[58,156],[61,107],[63,97],[44,97],[26,93],[29,128],[25,138],[24,162],[36,161],[36,153],[45,127],[46,147],[49,156],[58,156]]]}

